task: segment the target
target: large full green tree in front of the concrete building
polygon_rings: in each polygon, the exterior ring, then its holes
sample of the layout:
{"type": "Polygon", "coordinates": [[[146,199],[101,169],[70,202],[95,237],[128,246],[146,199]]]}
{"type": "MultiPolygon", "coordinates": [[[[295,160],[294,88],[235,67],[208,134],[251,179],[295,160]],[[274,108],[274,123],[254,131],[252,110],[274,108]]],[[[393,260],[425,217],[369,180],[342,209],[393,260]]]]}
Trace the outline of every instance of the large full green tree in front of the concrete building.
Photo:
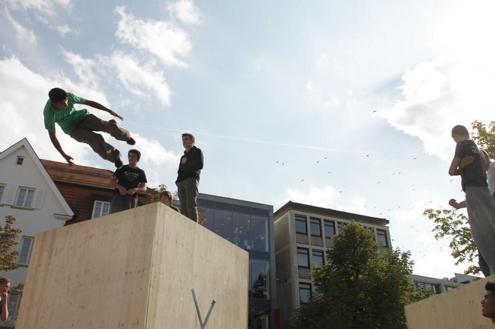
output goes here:
{"type": "Polygon", "coordinates": [[[410,252],[380,247],[373,231],[356,222],[344,226],[327,264],[311,271],[316,293],[296,312],[295,327],[405,329],[404,306],[429,294],[409,278],[410,252]]]}

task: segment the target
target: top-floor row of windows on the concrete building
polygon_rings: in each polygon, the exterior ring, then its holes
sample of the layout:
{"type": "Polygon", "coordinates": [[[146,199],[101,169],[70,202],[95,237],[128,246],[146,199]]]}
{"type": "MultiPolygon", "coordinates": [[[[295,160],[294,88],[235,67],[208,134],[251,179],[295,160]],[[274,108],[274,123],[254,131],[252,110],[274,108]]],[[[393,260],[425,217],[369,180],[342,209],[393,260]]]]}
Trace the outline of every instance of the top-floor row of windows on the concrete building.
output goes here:
{"type": "MultiPolygon", "coordinates": [[[[307,235],[307,226],[306,226],[306,216],[296,215],[296,233],[307,235]]],[[[337,232],[339,234],[342,233],[342,226],[347,225],[344,222],[337,222],[337,232]]],[[[323,220],[323,228],[325,238],[331,238],[336,234],[335,230],[335,222],[331,220],[323,220]]],[[[372,227],[369,227],[373,230],[372,227]]],[[[315,217],[309,217],[309,230],[311,236],[313,237],[322,237],[321,231],[321,219],[315,217]]],[[[382,243],[384,247],[388,247],[387,241],[387,231],[382,229],[376,229],[376,239],[378,242],[382,243]]]]}

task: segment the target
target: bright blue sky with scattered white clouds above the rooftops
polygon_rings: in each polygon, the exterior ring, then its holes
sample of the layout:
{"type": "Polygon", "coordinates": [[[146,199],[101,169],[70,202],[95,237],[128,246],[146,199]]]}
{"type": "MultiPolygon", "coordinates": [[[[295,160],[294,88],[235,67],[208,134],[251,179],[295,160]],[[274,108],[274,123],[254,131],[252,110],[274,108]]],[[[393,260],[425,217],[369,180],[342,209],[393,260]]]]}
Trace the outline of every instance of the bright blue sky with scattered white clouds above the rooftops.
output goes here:
{"type": "Polygon", "coordinates": [[[3,0],[0,148],[27,137],[63,161],[42,114],[59,86],[124,117],[151,187],[174,189],[189,131],[200,192],[385,217],[415,274],[453,276],[467,265],[421,214],[463,198],[450,128],[493,119],[494,5],[409,2],[3,0]]]}

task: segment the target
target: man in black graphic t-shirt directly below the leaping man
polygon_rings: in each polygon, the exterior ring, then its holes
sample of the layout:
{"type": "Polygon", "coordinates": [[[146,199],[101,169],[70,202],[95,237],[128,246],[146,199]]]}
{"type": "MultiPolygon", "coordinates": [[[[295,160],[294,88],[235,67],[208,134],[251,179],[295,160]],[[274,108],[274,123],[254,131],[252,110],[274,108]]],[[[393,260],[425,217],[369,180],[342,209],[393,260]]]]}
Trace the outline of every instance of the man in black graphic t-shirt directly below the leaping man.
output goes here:
{"type": "Polygon", "coordinates": [[[110,213],[137,207],[138,193],[146,192],[146,173],[138,168],[141,152],[130,150],[127,157],[129,164],[115,170],[110,179],[110,185],[115,188],[110,201],[110,213]]]}

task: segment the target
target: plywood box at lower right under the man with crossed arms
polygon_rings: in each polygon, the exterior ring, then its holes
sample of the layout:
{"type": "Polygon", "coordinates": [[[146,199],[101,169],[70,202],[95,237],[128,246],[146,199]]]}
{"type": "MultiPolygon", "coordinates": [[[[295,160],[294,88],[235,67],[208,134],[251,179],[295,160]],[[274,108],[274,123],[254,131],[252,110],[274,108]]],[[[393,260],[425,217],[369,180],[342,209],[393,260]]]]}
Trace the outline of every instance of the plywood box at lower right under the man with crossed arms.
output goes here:
{"type": "Polygon", "coordinates": [[[495,275],[407,305],[407,328],[494,328],[492,320],[481,314],[481,300],[485,295],[487,281],[495,282],[495,275]]]}

